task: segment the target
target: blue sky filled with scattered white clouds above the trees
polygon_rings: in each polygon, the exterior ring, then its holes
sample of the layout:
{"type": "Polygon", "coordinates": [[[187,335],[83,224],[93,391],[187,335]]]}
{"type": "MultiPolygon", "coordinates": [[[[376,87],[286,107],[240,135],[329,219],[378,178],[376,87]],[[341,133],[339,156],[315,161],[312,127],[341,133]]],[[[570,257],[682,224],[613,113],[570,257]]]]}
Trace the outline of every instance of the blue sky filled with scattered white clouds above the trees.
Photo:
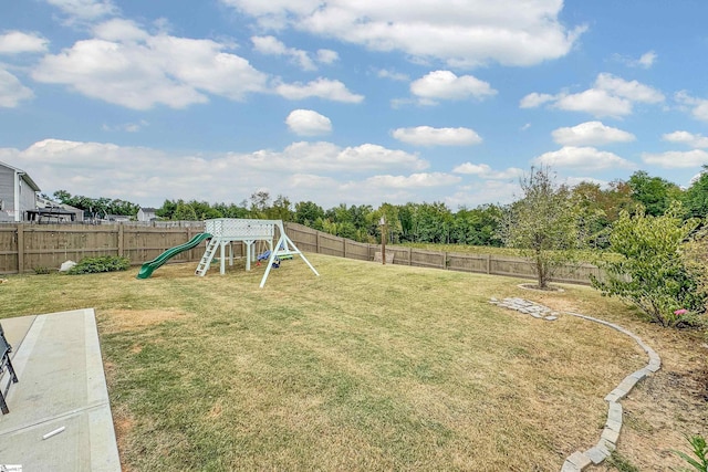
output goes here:
{"type": "Polygon", "coordinates": [[[705,0],[0,6],[0,161],[49,196],[457,210],[708,164],[705,0]]]}

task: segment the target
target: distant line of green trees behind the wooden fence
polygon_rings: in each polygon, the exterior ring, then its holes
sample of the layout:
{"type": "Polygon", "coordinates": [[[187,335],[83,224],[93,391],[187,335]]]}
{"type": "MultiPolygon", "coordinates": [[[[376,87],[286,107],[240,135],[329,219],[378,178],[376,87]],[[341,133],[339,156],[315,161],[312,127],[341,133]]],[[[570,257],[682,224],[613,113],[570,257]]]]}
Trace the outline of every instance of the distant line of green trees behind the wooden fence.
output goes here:
{"type": "MultiPolygon", "coordinates": [[[[563,195],[580,206],[585,214],[592,214],[590,231],[602,234],[603,230],[617,221],[622,211],[634,214],[639,208],[647,216],[666,213],[671,203],[679,201],[683,218],[705,218],[708,214],[708,168],[689,188],[646,171],[634,172],[628,180],[615,180],[606,188],[584,181],[569,188],[563,195]]],[[[65,190],[54,192],[54,199],[83,209],[91,217],[98,214],[122,214],[137,217],[139,204],[121,199],[88,198],[72,196],[65,190]]],[[[513,204],[513,203],[512,203],[513,204]]],[[[444,202],[408,202],[405,204],[382,203],[378,208],[369,204],[340,203],[324,209],[313,201],[293,203],[279,195],[274,199],[267,191],[258,191],[240,203],[209,203],[197,200],[165,200],[156,214],[163,220],[207,220],[215,218],[259,218],[294,221],[306,227],[360,242],[381,240],[381,219],[387,225],[391,243],[446,243],[470,245],[503,245],[500,237],[500,221],[512,206],[482,204],[476,208],[460,207],[456,211],[444,202]]],[[[600,247],[606,244],[596,238],[600,247]]]]}

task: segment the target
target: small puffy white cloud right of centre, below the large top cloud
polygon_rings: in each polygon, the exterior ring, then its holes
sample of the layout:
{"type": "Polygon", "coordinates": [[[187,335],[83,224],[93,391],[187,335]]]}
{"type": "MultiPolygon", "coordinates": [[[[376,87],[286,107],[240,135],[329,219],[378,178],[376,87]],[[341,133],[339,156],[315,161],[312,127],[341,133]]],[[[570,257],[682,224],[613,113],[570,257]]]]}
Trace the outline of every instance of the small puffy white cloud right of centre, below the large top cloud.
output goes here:
{"type": "Polygon", "coordinates": [[[425,104],[435,104],[437,99],[481,99],[497,94],[489,83],[471,75],[458,77],[450,71],[428,73],[410,84],[410,92],[425,104]]]}

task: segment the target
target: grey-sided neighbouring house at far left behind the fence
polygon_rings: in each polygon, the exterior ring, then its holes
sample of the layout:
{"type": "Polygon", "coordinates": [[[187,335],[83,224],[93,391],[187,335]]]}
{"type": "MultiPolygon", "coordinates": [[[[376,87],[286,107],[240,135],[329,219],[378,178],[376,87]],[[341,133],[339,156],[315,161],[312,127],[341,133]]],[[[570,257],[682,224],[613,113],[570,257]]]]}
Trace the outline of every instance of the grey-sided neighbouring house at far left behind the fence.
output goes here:
{"type": "Polygon", "coordinates": [[[0,221],[27,221],[37,209],[40,188],[21,169],[0,162],[0,221]]]}

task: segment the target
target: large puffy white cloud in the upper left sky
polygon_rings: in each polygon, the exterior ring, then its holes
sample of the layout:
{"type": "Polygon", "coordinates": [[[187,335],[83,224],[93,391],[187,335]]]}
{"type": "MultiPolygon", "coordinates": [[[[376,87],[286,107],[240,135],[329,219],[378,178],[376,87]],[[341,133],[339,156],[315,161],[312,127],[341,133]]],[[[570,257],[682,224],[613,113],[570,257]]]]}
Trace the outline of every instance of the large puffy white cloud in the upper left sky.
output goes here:
{"type": "Polygon", "coordinates": [[[205,93],[240,101],[266,91],[268,76],[225,52],[226,44],[150,35],[124,20],[98,24],[94,32],[103,39],[79,41],[45,55],[32,77],[135,109],[184,108],[208,102],[205,93]]]}

